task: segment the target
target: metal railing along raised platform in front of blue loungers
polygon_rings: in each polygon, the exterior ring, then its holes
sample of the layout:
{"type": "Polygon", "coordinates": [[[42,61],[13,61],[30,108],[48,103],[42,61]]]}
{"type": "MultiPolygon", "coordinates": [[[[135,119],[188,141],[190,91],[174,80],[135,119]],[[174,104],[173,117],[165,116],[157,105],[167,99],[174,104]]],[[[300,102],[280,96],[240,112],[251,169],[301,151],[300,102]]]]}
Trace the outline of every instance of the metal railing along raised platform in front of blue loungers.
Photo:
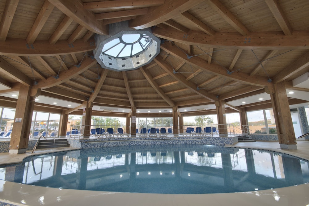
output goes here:
{"type": "MultiPolygon", "coordinates": [[[[123,125],[86,125],[89,131],[88,137],[129,137],[131,136],[131,128],[123,125]],[[102,129],[102,133],[97,133],[98,131],[91,131],[94,129],[102,129]],[[112,128],[112,133],[108,133],[108,128],[112,128]],[[118,132],[118,128],[121,128],[123,133],[118,132]]],[[[248,127],[246,127],[248,128],[248,127]]],[[[180,125],[177,127],[178,131],[174,131],[173,126],[160,126],[160,125],[138,125],[136,126],[137,132],[136,137],[149,137],[149,136],[211,136],[211,137],[235,137],[237,135],[243,134],[243,130],[234,126],[233,124],[206,124],[206,125],[180,125]],[[141,131],[142,128],[143,131],[141,131]],[[150,132],[150,128],[155,128],[155,132],[150,132]],[[165,128],[165,133],[161,133],[161,128],[165,128]],[[191,128],[190,134],[187,132],[187,128],[191,128]],[[193,129],[192,129],[193,128],[193,129]],[[198,128],[198,129],[197,129],[198,128]],[[208,129],[207,129],[208,128],[208,129]],[[168,130],[172,132],[168,132],[168,130]],[[210,129],[210,130],[209,130],[210,129]],[[146,130],[146,132],[144,132],[146,130]]],[[[71,126],[70,131],[67,131],[66,137],[70,138],[84,138],[85,129],[83,126],[71,126]]]]}

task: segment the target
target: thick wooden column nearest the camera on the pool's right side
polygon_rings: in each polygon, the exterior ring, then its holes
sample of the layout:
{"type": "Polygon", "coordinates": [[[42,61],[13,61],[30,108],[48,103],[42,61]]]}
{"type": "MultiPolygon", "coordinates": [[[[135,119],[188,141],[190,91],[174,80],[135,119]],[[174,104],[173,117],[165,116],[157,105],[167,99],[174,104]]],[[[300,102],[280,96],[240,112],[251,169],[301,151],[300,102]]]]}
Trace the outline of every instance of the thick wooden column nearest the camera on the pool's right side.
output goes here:
{"type": "Polygon", "coordinates": [[[270,95],[281,149],[297,149],[295,132],[284,82],[265,87],[270,95]]]}

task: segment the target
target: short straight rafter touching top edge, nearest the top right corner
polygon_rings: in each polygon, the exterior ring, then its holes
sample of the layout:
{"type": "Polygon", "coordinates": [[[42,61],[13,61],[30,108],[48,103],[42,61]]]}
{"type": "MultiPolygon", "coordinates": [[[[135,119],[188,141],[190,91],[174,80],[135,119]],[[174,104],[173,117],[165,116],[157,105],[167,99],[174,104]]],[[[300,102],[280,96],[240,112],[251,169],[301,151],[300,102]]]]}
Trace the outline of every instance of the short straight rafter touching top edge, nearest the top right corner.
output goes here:
{"type": "Polygon", "coordinates": [[[286,18],[286,15],[282,11],[282,8],[277,0],[265,0],[265,3],[269,7],[270,11],[273,13],[273,16],[277,20],[279,26],[281,27],[282,31],[285,35],[291,35],[293,29],[286,18]]]}

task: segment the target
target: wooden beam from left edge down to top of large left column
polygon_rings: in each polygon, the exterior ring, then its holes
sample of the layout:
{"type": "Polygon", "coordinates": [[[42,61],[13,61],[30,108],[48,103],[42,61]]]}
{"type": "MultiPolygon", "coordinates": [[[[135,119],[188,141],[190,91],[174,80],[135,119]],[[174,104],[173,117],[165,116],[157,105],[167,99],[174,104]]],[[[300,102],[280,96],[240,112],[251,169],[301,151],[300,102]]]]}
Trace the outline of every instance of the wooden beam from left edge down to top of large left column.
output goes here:
{"type": "Polygon", "coordinates": [[[22,83],[25,86],[32,86],[33,84],[33,80],[31,78],[20,72],[18,69],[16,69],[14,66],[6,62],[1,57],[0,57],[0,71],[3,72],[3,74],[22,83]]]}

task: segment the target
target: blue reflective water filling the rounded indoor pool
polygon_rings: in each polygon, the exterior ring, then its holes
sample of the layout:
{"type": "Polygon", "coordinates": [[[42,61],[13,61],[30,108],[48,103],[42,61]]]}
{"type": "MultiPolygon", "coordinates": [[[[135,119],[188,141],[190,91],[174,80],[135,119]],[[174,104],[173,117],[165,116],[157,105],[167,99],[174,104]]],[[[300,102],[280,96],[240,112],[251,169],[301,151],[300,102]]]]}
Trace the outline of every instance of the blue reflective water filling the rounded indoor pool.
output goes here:
{"type": "Polygon", "coordinates": [[[79,190],[205,194],[303,184],[309,169],[305,160],[264,150],[143,145],[29,157],[0,168],[0,179],[79,190]]]}

